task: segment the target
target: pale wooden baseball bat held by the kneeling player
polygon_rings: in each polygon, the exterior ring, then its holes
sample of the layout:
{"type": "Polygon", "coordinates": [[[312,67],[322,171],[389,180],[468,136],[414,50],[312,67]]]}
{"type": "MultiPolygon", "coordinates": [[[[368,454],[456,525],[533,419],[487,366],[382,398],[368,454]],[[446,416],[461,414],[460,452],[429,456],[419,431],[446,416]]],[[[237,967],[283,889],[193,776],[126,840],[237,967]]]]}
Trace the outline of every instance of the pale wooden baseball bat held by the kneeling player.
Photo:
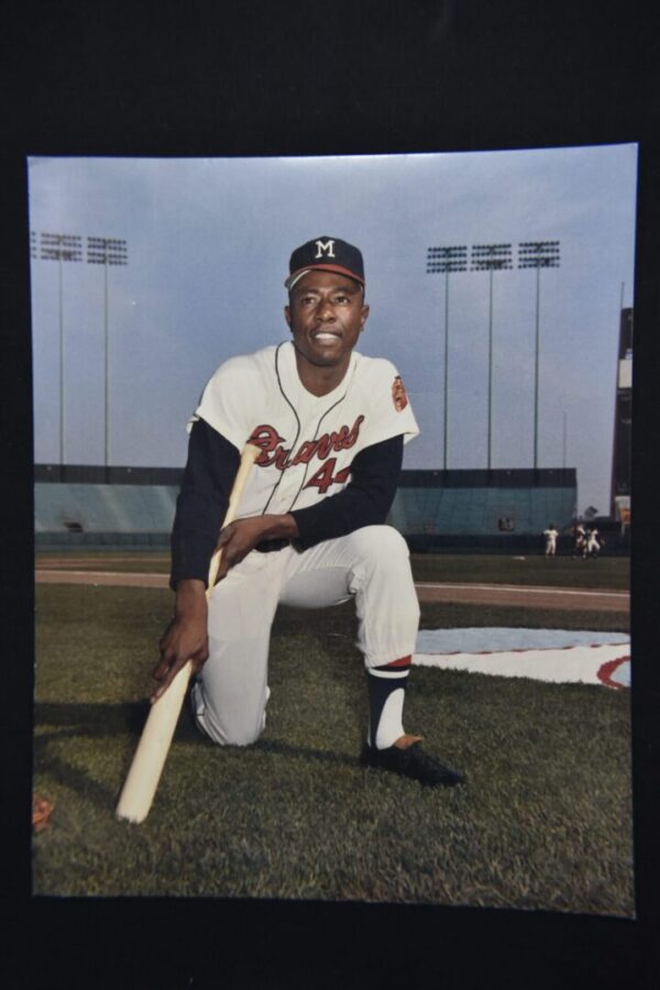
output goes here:
{"type": "MultiPolygon", "coordinates": [[[[246,443],[243,448],[239,471],[222,520],[222,529],[229,526],[235,516],[248,475],[258,453],[258,448],[252,443],[246,443]]],[[[216,584],[221,554],[222,549],[219,549],[211,557],[207,598],[216,584]]],[[[117,805],[116,816],[120,820],[125,818],[139,824],[144,822],[151,810],[191,673],[193,663],[188,660],[178,671],[167,691],[151,707],[117,805]]]]}

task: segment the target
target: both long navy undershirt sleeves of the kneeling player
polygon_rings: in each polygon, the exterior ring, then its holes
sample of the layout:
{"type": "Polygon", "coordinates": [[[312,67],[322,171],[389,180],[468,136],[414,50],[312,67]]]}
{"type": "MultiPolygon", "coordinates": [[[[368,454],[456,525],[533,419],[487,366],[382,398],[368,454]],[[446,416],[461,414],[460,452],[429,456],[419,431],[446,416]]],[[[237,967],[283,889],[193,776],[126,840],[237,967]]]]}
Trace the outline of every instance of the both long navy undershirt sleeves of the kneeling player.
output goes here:
{"type": "MultiPolygon", "coordinates": [[[[360,451],[345,488],[316,505],[292,510],[299,534],[295,544],[306,550],[363,526],[385,522],[396,494],[403,452],[403,436],[360,451]]],[[[173,590],[186,578],[206,584],[240,460],[233,443],[204,419],[195,421],[172,531],[173,590]]]]}

